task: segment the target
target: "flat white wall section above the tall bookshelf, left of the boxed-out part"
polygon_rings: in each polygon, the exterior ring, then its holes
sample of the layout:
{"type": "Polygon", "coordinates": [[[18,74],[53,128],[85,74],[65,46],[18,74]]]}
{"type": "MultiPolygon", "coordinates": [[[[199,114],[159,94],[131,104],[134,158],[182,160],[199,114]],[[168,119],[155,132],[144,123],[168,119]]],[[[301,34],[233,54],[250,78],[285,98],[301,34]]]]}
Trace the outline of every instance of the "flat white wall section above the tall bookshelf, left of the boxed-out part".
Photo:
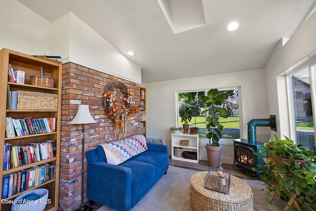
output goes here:
{"type": "Polygon", "coordinates": [[[16,0],[0,0],[0,49],[50,55],[50,23],[16,0]]]}

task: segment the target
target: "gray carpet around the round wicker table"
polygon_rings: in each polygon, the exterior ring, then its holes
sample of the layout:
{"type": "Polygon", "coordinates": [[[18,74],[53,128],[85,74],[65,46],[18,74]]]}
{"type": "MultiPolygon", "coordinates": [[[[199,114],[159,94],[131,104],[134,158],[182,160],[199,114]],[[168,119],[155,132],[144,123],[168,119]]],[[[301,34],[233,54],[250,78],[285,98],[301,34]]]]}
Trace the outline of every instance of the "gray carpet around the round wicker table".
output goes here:
{"type": "MultiPolygon", "coordinates": [[[[195,170],[182,169],[170,166],[156,185],[131,211],[190,211],[190,177],[195,170]]],[[[252,189],[255,211],[283,211],[286,201],[278,197],[272,205],[263,198],[263,182],[244,180],[252,189]]],[[[119,196],[118,196],[119,197],[119,196]]],[[[114,211],[102,206],[97,211],[114,211]]]]}

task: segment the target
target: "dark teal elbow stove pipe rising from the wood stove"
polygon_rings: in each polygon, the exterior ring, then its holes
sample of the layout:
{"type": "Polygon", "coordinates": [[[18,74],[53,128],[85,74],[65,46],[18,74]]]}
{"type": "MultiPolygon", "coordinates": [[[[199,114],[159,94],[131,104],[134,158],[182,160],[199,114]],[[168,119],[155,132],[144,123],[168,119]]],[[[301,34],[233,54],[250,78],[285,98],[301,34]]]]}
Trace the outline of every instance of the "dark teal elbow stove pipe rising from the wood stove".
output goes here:
{"type": "Polygon", "coordinates": [[[269,119],[252,119],[247,123],[248,130],[248,142],[256,143],[257,142],[257,132],[256,127],[270,127],[273,130],[276,130],[276,117],[271,115],[269,119]]]}

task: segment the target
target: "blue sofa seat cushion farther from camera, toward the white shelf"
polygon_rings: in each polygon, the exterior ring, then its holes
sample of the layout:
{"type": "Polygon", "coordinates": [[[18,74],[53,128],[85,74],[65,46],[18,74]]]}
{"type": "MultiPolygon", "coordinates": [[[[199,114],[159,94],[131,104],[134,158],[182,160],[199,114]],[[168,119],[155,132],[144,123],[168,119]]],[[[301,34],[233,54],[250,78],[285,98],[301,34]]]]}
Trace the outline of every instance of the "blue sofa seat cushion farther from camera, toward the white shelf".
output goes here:
{"type": "Polygon", "coordinates": [[[169,155],[161,152],[146,151],[139,155],[134,156],[130,160],[146,162],[156,167],[156,173],[168,165],[169,155]]]}

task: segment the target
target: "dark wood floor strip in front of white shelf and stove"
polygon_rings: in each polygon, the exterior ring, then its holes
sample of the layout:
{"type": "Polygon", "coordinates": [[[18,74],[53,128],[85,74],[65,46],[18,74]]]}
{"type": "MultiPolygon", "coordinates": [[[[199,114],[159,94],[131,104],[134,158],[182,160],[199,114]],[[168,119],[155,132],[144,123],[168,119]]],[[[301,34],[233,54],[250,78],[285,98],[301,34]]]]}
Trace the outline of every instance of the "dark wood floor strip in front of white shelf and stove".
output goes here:
{"type": "MultiPolygon", "coordinates": [[[[203,170],[209,170],[209,166],[207,164],[207,161],[199,161],[198,164],[194,163],[188,163],[184,161],[174,161],[169,159],[169,166],[173,167],[179,167],[183,169],[191,169],[191,170],[197,170],[197,171],[203,171],[203,170]]],[[[258,180],[258,177],[256,175],[250,175],[248,173],[245,173],[242,169],[235,166],[234,169],[233,165],[231,164],[222,164],[222,167],[224,170],[229,171],[231,175],[234,175],[240,179],[248,179],[248,180],[258,180]]]]}

